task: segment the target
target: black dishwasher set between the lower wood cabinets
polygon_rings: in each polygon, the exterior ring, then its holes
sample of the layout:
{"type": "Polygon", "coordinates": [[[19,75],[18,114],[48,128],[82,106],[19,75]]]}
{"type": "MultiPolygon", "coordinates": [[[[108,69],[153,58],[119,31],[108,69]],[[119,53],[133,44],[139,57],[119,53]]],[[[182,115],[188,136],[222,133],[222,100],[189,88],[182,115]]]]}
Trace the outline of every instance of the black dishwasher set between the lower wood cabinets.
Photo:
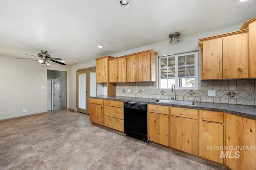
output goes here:
{"type": "Polygon", "coordinates": [[[147,104],[124,102],[124,133],[148,142],[147,104]]]}

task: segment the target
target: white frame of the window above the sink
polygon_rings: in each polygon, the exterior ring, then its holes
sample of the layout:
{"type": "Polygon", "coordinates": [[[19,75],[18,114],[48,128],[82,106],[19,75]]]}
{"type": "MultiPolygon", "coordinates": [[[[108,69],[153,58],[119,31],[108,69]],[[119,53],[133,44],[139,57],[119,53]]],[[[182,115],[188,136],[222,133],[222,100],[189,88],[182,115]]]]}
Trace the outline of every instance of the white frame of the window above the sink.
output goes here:
{"type": "MultiPolygon", "coordinates": [[[[161,59],[168,58],[168,57],[175,57],[175,87],[176,89],[184,89],[184,90],[199,90],[199,69],[198,69],[198,51],[188,52],[188,53],[180,53],[174,55],[165,55],[158,57],[158,88],[159,89],[171,89],[171,88],[161,88],[161,59]],[[194,54],[195,56],[195,87],[178,87],[178,57],[184,55],[191,55],[194,54]]],[[[187,66],[185,64],[185,66],[187,66]]]]}

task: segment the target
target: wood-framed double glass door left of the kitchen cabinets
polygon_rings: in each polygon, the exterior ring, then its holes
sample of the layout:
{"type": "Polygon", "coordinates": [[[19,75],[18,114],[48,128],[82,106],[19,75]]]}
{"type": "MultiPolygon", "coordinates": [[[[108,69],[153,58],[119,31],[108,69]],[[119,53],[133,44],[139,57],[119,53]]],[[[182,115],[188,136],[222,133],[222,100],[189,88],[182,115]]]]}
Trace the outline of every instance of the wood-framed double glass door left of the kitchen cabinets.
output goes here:
{"type": "Polygon", "coordinates": [[[96,96],[96,69],[84,68],[76,71],[76,109],[89,114],[89,96],[96,96]]]}

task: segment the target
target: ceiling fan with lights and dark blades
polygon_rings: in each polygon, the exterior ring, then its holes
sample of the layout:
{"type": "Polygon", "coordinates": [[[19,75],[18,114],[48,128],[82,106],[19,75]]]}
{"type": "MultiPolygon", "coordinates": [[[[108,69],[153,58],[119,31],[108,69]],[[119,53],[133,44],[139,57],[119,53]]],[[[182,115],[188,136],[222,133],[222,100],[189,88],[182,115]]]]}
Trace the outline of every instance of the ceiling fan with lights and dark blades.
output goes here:
{"type": "MultiPolygon", "coordinates": [[[[35,55],[31,55],[37,58],[16,58],[16,59],[39,59],[36,61],[36,63],[46,64],[46,66],[50,65],[49,61],[61,64],[61,65],[66,65],[65,63],[60,63],[58,61],[55,61],[55,60],[62,60],[60,58],[51,58],[50,55],[46,54],[48,51],[41,50],[41,52],[42,53],[38,53],[38,57],[35,55]]],[[[24,55],[29,55],[29,54],[24,54],[24,55]]]]}

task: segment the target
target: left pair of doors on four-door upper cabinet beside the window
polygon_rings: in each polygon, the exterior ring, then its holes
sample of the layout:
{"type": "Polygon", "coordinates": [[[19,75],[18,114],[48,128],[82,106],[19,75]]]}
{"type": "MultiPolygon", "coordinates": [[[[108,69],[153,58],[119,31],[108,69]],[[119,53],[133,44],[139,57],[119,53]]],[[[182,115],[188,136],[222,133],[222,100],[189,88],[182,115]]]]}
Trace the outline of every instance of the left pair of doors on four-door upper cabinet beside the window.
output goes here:
{"type": "Polygon", "coordinates": [[[126,57],[109,61],[109,82],[126,82],[126,57]]]}

